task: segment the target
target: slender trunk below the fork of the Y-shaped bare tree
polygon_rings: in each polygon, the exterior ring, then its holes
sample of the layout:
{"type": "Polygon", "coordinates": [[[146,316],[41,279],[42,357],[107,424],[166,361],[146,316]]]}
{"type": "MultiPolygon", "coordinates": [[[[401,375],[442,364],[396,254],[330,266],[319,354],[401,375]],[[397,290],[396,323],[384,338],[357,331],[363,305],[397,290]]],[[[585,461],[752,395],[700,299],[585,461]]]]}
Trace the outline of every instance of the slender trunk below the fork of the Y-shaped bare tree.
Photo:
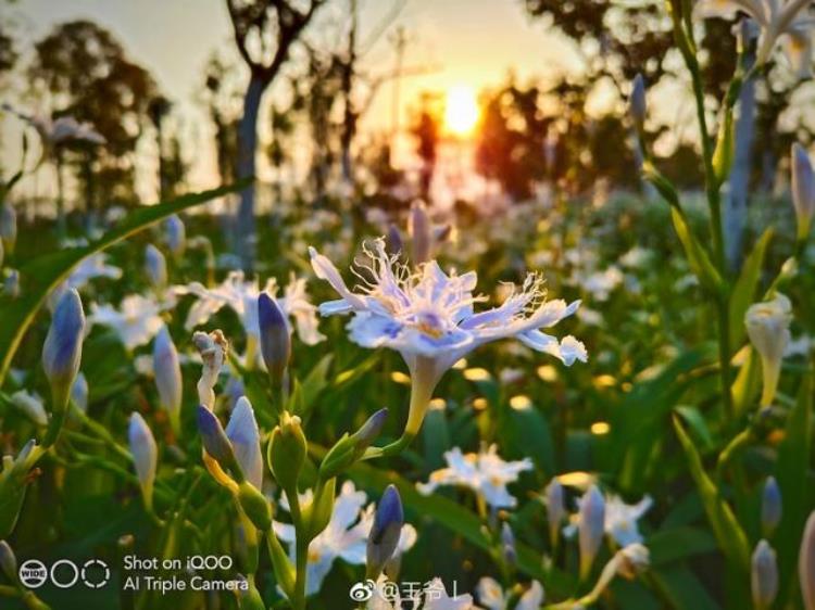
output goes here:
{"type": "MultiPolygon", "coordinates": [[[[267,80],[252,74],[243,97],[243,116],[238,125],[238,178],[254,176],[258,149],[258,114],[267,80]]],[[[246,271],[254,267],[258,236],[254,218],[254,183],[240,191],[236,245],[246,271]]]]}

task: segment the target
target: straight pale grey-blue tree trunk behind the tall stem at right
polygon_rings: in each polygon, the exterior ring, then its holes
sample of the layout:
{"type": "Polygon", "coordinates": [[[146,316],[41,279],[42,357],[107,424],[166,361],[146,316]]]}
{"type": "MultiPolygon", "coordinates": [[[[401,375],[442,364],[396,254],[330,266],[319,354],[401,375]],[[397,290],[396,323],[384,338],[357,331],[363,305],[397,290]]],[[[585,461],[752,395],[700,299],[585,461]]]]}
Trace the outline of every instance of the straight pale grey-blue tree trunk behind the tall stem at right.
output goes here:
{"type": "Polygon", "coordinates": [[[739,117],[736,122],[736,155],[730,173],[730,193],[725,200],[725,247],[730,269],[738,269],[747,225],[748,191],[753,165],[755,134],[755,82],[744,82],[739,96],[739,117]]]}

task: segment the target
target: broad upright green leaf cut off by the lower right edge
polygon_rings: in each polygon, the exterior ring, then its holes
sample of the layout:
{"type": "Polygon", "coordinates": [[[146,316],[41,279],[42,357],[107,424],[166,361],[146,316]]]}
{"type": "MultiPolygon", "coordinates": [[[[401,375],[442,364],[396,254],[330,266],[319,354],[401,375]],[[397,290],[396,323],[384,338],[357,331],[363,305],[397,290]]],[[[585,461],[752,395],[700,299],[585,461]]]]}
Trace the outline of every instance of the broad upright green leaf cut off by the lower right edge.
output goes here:
{"type": "Polygon", "coordinates": [[[778,552],[778,574],[780,577],[778,608],[783,608],[790,590],[790,582],[795,572],[798,549],[804,530],[804,522],[812,505],[807,493],[807,468],[811,460],[812,440],[812,372],[807,372],[799,391],[795,406],[790,411],[783,441],[778,447],[775,476],[781,490],[783,517],[775,539],[778,552]]]}

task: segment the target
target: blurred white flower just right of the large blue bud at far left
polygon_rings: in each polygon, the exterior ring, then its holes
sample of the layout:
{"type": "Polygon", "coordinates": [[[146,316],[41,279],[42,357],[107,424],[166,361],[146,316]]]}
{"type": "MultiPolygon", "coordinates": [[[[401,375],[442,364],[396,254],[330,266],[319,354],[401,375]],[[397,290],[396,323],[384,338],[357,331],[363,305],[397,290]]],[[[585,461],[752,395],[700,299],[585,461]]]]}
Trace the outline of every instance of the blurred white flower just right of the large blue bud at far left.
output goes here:
{"type": "Polygon", "coordinates": [[[127,350],[145,345],[164,326],[162,306],[153,298],[141,294],[125,296],[116,309],[110,304],[91,304],[90,325],[112,328],[127,350]]]}

